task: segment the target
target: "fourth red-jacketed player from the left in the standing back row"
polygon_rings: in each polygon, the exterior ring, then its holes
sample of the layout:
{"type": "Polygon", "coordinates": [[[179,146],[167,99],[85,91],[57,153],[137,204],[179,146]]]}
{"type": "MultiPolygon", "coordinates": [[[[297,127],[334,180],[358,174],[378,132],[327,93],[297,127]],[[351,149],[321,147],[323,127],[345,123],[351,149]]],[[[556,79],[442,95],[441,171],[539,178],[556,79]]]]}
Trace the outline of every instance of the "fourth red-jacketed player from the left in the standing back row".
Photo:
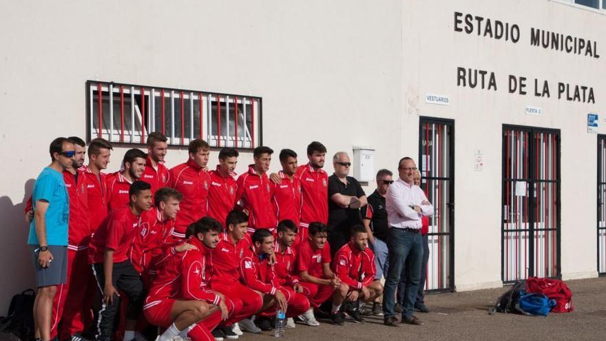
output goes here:
{"type": "Polygon", "coordinates": [[[147,135],[147,158],[145,158],[145,170],[141,180],[151,185],[151,195],[162,187],[166,187],[169,181],[169,173],[164,165],[164,158],[168,150],[167,138],[161,132],[151,132],[147,135]]]}

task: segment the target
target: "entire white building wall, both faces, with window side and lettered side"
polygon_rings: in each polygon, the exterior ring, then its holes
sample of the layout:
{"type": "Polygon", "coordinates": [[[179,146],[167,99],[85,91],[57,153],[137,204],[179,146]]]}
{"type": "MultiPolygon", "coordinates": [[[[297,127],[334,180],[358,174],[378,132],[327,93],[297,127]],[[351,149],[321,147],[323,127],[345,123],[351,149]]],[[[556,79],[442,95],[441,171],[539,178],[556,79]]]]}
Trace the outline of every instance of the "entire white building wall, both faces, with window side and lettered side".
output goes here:
{"type": "MultiPolygon", "coordinates": [[[[300,163],[317,140],[328,156],[374,147],[375,170],[395,171],[401,156],[417,157],[419,116],[454,119],[459,290],[501,283],[503,123],[560,129],[562,273],[595,276],[596,136],[585,120],[605,112],[605,18],[546,0],[0,0],[0,155],[10,165],[0,187],[0,269],[10,274],[0,277],[0,313],[33,285],[23,202],[52,138],[84,137],[89,79],[261,96],[264,144],[294,149],[300,163]],[[454,32],[455,11],[517,23],[521,40],[454,32]],[[530,27],[597,40],[604,56],[531,47],[530,27]],[[458,66],[495,72],[498,91],[457,87],[458,66]],[[527,76],[530,94],[509,94],[508,74],[527,76]],[[534,77],[552,83],[551,99],[532,96],[534,77]],[[558,100],[558,81],[593,86],[596,104],[558,100]],[[426,93],[452,103],[427,105],[426,93]],[[543,107],[543,116],[525,115],[525,105],[543,107]],[[475,149],[482,172],[474,172],[475,149]]],[[[108,170],[126,148],[116,147],[108,170]]],[[[185,158],[171,149],[167,163],[185,158]]],[[[215,160],[213,151],[211,167],[215,160]]],[[[245,153],[238,172],[250,161],[245,153]]]]}

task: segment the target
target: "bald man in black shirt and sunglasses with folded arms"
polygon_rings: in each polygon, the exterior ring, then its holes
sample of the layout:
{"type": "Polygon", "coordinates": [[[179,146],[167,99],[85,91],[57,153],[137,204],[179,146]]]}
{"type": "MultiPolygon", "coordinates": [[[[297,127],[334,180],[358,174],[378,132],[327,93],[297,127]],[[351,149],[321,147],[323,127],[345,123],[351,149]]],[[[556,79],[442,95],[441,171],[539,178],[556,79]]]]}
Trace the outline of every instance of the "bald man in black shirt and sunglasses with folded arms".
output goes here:
{"type": "Polygon", "coordinates": [[[360,207],[367,204],[366,194],[355,178],[347,176],[351,162],[346,152],[333,156],[335,173],[328,176],[328,244],[331,256],[349,241],[349,230],[362,224],[360,207]]]}

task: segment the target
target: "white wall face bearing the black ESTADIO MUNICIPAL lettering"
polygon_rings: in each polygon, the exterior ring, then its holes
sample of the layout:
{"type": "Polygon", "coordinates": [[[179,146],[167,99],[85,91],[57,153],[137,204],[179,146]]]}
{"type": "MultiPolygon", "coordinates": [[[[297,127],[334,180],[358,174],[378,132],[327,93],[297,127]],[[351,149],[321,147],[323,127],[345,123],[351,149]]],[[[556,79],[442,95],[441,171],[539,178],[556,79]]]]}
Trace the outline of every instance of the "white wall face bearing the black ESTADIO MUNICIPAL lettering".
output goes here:
{"type": "MultiPolygon", "coordinates": [[[[561,130],[561,271],[564,278],[596,276],[596,135],[587,134],[587,113],[606,109],[606,16],[554,1],[404,1],[402,92],[405,120],[417,135],[417,116],[455,123],[455,285],[476,289],[501,281],[502,125],[561,130]],[[518,43],[454,31],[454,12],[516,23],[518,43]],[[600,59],[536,48],[530,28],[597,41],[600,59]],[[489,70],[497,91],[457,87],[457,67],[489,70]],[[526,76],[526,96],[508,92],[508,75],[526,76]],[[534,93],[534,78],[550,82],[551,98],[534,93]],[[556,85],[594,87],[596,103],[558,100],[556,85]],[[450,96],[448,106],[424,103],[425,94],[450,96]],[[524,113],[526,105],[542,116],[524,113]],[[474,151],[483,151],[483,171],[474,172],[474,151]]],[[[494,21],[493,21],[494,24],[494,21]]],[[[462,25],[461,25],[462,26],[462,25]]],[[[417,150],[410,141],[410,154],[417,150]]]]}

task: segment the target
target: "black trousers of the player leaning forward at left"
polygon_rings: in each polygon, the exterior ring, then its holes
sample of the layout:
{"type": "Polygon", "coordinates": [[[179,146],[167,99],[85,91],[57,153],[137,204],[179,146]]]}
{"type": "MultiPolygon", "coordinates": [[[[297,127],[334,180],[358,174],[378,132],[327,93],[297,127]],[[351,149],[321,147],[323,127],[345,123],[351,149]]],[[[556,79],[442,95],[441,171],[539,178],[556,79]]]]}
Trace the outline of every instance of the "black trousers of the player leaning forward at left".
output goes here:
{"type": "MultiPolygon", "coordinates": [[[[92,271],[97,280],[98,289],[101,290],[103,298],[103,287],[105,287],[105,275],[103,273],[103,263],[92,265],[92,271]]],[[[128,308],[126,311],[127,320],[138,320],[143,308],[143,281],[139,273],[128,260],[124,262],[114,263],[112,270],[112,284],[120,291],[123,291],[128,296],[128,308]]],[[[109,340],[112,337],[114,330],[114,320],[116,313],[120,307],[120,298],[114,296],[113,304],[101,304],[99,317],[97,320],[97,340],[109,340]]]]}

